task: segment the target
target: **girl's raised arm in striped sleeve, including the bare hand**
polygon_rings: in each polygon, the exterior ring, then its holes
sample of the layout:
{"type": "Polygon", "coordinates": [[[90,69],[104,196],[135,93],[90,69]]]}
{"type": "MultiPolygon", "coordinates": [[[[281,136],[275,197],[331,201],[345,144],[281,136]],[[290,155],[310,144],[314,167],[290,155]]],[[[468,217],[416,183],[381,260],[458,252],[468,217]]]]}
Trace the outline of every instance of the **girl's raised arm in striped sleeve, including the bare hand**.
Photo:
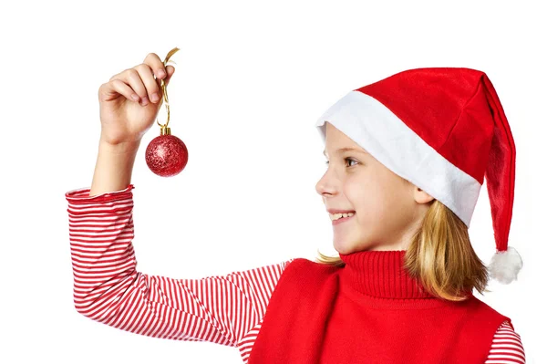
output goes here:
{"type": "Polygon", "coordinates": [[[98,89],[101,133],[93,181],[89,189],[66,193],[74,304],[85,317],[140,335],[237,347],[246,361],[290,261],[202,279],[137,270],[131,173],[161,106],[160,80],[167,85],[173,73],[150,53],[98,89]]]}

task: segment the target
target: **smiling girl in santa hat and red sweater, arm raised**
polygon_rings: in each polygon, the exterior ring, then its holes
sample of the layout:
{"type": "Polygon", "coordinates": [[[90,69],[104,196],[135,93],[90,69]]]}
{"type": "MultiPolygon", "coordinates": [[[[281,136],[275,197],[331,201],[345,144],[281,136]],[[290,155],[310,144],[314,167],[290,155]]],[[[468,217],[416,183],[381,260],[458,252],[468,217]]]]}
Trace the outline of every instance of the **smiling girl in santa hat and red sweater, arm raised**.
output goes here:
{"type": "Polygon", "coordinates": [[[160,109],[156,54],[99,88],[90,188],[66,193],[77,312],[155,338],[238,348],[248,363],[525,362],[511,318],[473,296],[515,279],[514,143],[483,72],[417,68],[349,92],[317,121],[317,182],[339,257],[202,279],[136,270],[130,176],[160,109]],[[488,180],[496,255],[468,228],[488,180]]]}

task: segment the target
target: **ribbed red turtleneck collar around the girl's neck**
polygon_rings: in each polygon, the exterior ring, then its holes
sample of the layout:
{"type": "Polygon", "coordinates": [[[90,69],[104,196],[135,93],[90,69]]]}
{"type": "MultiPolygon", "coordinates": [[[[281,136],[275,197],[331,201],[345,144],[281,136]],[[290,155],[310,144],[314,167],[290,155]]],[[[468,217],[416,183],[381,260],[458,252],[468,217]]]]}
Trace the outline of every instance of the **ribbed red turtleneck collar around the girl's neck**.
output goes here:
{"type": "Polygon", "coordinates": [[[341,279],[366,296],[388,299],[436,298],[403,268],[405,250],[340,254],[346,263],[341,279]]]}

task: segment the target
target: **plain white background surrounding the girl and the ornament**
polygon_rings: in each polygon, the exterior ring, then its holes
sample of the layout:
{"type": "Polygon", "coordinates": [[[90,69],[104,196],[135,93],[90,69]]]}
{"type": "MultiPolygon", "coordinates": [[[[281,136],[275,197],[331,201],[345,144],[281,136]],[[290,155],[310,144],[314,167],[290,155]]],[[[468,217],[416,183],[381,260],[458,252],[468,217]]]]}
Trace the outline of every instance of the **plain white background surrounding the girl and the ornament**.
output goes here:
{"type": "MultiPolygon", "coordinates": [[[[332,226],[315,120],[351,89],[407,68],[487,73],[517,148],[510,245],[524,267],[480,299],[546,362],[545,34],[540,2],[94,1],[2,5],[3,363],[239,363],[235,348],[148,338],[77,314],[65,192],[90,186],[98,87],[172,47],[170,127],[189,149],[173,178],[135,162],[138,269],[202,277],[315,257],[332,226]],[[198,5],[199,4],[199,5],[198,5]],[[511,5],[510,5],[511,4],[511,5]],[[541,334],[543,332],[543,334],[541,334]],[[542,337],[541,337],[542,336],[542,337]]],[[[160,114],[160,118],[164,114],[160,114]]],[[[486,186],[470,235],[494,254],[486,186]]]]}

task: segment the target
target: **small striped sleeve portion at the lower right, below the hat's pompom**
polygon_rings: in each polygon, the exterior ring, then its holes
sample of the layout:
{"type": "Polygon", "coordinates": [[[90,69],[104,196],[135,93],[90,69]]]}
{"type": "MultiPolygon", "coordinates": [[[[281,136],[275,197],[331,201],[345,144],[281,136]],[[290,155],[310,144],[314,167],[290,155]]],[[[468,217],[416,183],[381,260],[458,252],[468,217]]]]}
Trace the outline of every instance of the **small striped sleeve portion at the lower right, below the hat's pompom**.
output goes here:
{"type": "Polygon", "coordinates": [[[494,334],[486,364],[526,363],[521,336],[508,321],[504,321],[494,334]]]}

